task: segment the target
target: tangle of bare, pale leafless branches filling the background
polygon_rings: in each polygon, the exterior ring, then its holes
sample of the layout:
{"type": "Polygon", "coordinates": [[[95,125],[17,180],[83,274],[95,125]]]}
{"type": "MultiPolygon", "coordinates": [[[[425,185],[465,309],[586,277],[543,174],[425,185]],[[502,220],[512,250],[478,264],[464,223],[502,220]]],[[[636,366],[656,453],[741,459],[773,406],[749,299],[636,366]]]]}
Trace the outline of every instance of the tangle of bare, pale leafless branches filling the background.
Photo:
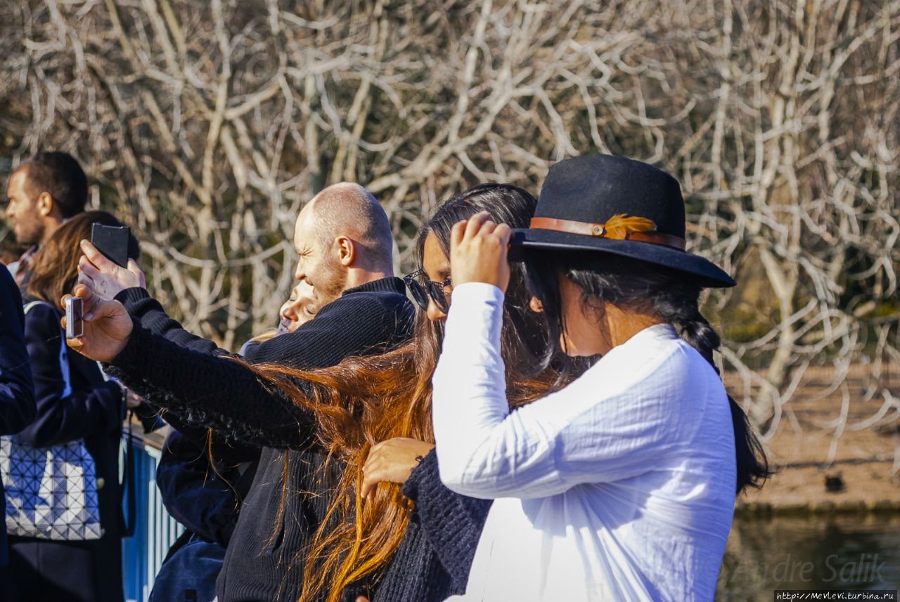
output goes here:
{"type": "MultiPolygon", "coordinates": [[[[449,194],[604,152],[676,173],[690,250],[742,281],[707,305],[764,435],[807,367],[900,362],[897,0],[30,0],[0,33],[3,154],[81,157],[227,346],[273,323],[324,185],[382,200],[405,269],[449,194]]],[[[900,416],[869,396],[831,428],[900,416]]]]}

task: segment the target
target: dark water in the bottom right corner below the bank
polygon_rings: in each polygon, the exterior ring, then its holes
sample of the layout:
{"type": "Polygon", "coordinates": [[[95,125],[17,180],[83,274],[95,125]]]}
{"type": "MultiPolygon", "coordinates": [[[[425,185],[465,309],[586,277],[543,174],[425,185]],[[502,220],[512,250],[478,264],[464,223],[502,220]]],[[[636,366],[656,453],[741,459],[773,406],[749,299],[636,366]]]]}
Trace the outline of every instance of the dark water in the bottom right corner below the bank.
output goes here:
{"type": "Polygon", "coordinates": [[[735,518],[716,600],[775,589],[900,589],[900,515],[735,518]]]}

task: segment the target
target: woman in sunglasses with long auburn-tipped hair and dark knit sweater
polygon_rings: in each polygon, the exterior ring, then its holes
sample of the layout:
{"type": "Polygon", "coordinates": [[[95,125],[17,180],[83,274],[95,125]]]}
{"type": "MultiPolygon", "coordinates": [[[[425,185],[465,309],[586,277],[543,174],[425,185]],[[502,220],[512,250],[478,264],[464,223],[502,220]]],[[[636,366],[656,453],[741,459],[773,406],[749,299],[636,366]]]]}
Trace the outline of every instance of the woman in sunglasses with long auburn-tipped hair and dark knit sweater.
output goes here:
{"type": "MultiPolygon", "coordinates": [[[[323,445],[347,466],[333,496],[333,519],[320,528],[307,554],[302,600],[353,600],[365,594],[373,602],[438,602],[464,591],[491,502],[446,489],[431,452],[430,379],[453,291],[450,230],[479,211],[525,226],[535,202],[524,190],[503,184],[482,184],[448,200],[420,231],[416,251],[422,269],[406,278],[422,310],[412,341],[379,358],[315,371],[320,382],[315,390],[282,387],[301,406],[353,407],[364,417],[360,431],[351,430],[353,423],[344,416],[320,415],[323,445]]],[[[540,368],[545,324],[528,307],[521,267],[512,270],[502,321],[510,403],[527,403],[558,375],[540,368]]],[[[283,382],[279,374],[267,376],[283,382]]]]}

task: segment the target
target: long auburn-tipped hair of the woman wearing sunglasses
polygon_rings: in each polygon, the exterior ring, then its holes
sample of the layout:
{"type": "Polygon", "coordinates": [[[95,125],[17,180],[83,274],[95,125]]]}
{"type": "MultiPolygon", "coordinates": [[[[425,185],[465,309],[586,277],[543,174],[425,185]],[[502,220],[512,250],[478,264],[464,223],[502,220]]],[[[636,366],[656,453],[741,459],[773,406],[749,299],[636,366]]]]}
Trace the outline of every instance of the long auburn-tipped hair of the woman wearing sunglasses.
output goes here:
{"type": "MultiPolygon", "coordinates": [[[[524,227],[535,204],[525,190],[505,184],[465,190],[441,206],[419,233],[419,264],[428,235],[434,234],[449,255],[450,229],[456,222],[488,211],[498,222],[524,227]]],[[[501,335],[513,406],[539,399],[558,382],[552,369],[527,377],[536,372],[548,342],[544,318],[528,309],[528,298],[523,270],[513,265],[501,335]]],[[[255,367],[293,403],[317,416],[316,444],[327,456],[325,464],[344,465],[331,492],[327,517],[298,558],[305,562],[302,602],[336,602],[347,586],[377,581],[400,545],[412,502],[402,496],[398,483],[382,483],[374,500],[361,500],[363,465],[369,449],[389,438],[434,442],[431,375],[442,338],[443,323],[431,322],[419,312],[413,339],[381,356],[346,359],[336,367],[313,371],[255,367]],[[292,379],[306,381],[306,392],[292,379]]]]}

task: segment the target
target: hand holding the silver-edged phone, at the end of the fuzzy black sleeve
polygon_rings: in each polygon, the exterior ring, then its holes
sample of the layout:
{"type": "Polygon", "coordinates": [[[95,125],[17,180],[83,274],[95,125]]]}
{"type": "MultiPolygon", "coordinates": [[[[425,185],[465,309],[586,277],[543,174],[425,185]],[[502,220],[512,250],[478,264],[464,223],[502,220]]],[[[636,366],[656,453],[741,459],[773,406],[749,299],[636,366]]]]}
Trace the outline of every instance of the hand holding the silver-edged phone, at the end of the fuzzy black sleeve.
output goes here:
{"type": "MultiPolygon", "coordinates": [[[[76,285],[74,293],[75,297],[81,297],[84,306],[84,334],[77,339],[67,339],[68,346],[86,358],[112,361],[125,349],[131,336],[134,328],[131,316],[124,305],[118,301],[104,300],[83,284],[76,285]]],[[[68,297],[73,296],[62,297],[63,305],[66,305],[68,297]]],[[[63,317],[60,323],[65,330],[66,318],[63,317]]]]}

